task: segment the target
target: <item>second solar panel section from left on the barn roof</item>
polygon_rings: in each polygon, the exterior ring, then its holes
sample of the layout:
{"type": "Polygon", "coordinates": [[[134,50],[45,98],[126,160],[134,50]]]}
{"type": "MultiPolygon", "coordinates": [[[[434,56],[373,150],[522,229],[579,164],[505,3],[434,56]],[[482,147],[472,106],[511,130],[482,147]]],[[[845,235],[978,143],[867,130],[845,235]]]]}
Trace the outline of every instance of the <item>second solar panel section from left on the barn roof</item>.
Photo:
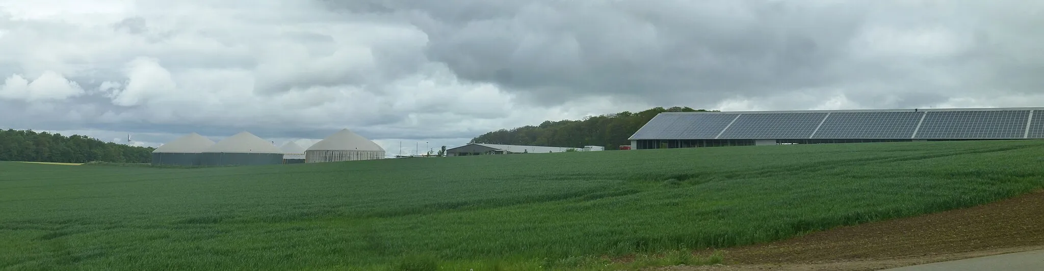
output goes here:
{"type": "Polygon", "coordinates": [[[718,139],[808,139],[826,113],[743,114],[718,139]]]}

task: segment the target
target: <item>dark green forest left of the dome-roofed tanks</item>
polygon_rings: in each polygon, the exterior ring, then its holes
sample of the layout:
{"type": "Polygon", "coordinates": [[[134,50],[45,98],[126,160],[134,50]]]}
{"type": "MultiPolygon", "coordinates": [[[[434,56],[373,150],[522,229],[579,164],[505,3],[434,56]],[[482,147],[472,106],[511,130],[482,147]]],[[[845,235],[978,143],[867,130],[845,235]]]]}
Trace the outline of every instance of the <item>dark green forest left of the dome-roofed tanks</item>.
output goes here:
{"type": "Polygon", "coordinates": [[[51,163],[149,163],[152,148],[102,142],[86,136],[0,130],[0,161],[51,163]]]}

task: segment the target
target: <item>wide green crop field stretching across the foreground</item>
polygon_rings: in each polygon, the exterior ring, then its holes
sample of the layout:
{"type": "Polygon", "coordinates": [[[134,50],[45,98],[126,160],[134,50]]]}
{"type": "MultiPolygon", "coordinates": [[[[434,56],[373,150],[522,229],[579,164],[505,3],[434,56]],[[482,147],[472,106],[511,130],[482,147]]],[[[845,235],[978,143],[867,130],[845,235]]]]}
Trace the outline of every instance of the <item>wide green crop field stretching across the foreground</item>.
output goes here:
{"type": "MultiPolygon", "coordinates": [[[[599,270],[1044,187],[1044,142],[161,169],[0,163],[5,270],[599,270]],[[630,256],[627,258],[631,258],[630,256]]],[[[728,257],[728,254],[725,255],[728,257]]]]}

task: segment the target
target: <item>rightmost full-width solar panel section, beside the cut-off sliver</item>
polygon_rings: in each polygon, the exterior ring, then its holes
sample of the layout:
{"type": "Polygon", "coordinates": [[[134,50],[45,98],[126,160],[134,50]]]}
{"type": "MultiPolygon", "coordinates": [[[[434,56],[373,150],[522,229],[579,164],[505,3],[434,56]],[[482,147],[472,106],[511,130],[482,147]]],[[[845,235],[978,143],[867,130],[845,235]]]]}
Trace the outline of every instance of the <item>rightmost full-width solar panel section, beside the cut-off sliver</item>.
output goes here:
{"type": "Polygon", "coordinates": [[[1029,110],[928,112],[915,139],[1022,139],[1029,110]]]}

